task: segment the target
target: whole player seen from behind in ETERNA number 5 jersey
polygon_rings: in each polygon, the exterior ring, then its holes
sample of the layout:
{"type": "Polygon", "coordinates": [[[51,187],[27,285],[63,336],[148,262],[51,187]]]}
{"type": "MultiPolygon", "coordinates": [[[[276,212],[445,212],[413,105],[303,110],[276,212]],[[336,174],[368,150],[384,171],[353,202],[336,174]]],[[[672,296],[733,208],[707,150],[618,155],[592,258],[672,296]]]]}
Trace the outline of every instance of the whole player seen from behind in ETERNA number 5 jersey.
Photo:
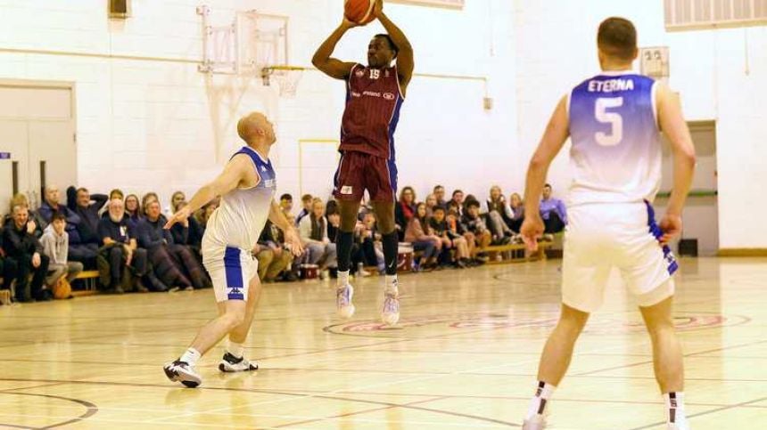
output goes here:
{"type": "Polygon", "coordinates": [[[631,72],[638,53],[631,21],[603,21],[598,53],[603,72],[559,101],[527,173],[522,234],[535,248],[544,228],[538,206],[548,166],[572,138],[562,314],[540,358],[539,384],[523,428],[545,428],[551,395],[565,377],[590,312],[602,304],[607,277],[615,267],[637,297],[652,340],[668,428],[687,430],[682,354],[672,322],[672,274],[678,264],[666,244],[681,231],[695,148],[677,96],[665,85],[631,72]],[[673,190],[658,225],[651,203],[661,183],[661,132],[672,145],[673,190]]]}

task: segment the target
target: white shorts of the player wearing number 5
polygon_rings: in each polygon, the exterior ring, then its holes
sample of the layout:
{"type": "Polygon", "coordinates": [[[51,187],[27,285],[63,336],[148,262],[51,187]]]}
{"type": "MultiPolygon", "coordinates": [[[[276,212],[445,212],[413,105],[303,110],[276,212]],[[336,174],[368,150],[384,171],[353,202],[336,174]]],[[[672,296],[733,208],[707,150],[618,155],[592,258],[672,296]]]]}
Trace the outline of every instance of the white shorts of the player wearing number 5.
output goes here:
{"type": "Polygon", "coordinates": [[[640,306],[673,295],[679,265],[647,203],[595,203],[568,208],[562,263],[562,302],[581,312],[602,305],[610,272],[618,269],[640,306]]]}

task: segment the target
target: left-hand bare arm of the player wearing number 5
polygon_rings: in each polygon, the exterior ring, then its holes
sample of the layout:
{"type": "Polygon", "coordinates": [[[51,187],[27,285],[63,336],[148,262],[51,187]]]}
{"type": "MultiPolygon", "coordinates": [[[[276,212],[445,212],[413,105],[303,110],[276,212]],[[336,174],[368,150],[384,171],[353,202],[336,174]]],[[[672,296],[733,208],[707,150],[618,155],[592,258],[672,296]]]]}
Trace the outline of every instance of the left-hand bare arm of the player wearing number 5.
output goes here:
{"type": "Polygon", "coordinates": [[[543,234],[543,221],[540,219],[540,193],[546,183],[548,166],[562,150],[562,146],[570,135],[568,122],[567,98],[563,97],[557,104],[551,119],[548,120],[546,132],[540,139],[538,149],[532,155],[527,169],[524,187],[524,223],[520,232],[532,250],[537,248],[536,240],[543,234]]]}

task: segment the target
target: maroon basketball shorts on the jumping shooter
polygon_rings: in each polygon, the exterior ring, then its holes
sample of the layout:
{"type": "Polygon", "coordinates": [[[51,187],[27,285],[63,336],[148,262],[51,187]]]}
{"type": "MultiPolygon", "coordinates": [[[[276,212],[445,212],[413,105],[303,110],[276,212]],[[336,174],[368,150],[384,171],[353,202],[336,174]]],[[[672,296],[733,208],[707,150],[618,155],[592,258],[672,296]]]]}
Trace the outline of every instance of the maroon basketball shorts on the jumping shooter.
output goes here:
{"type": "Polygon", "coordinates": [[[333,183],[335,199],[360,201],[367,190],[371,201],[397,201],[397,165],[394,160],[364,152],[344,151],[333,183]]]}

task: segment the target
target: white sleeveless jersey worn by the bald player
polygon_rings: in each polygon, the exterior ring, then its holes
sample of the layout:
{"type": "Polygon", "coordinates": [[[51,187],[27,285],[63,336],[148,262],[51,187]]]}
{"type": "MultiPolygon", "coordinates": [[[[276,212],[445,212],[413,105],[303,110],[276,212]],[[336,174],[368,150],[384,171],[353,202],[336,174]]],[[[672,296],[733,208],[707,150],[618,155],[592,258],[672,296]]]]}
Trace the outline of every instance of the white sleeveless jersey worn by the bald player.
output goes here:
{"type": "Polygon", "coordinates": [[[220,205],[210,215],[205,228],[203,247],[236,247],[249,251],[259,241],[261,230],[267,223],[276,191],[272,163],[263,160],[258,152],[247,146],[235,152],[237,154],[251,158],[260,182],[255,187],[238,188],[221,196],[220,205]]]}

